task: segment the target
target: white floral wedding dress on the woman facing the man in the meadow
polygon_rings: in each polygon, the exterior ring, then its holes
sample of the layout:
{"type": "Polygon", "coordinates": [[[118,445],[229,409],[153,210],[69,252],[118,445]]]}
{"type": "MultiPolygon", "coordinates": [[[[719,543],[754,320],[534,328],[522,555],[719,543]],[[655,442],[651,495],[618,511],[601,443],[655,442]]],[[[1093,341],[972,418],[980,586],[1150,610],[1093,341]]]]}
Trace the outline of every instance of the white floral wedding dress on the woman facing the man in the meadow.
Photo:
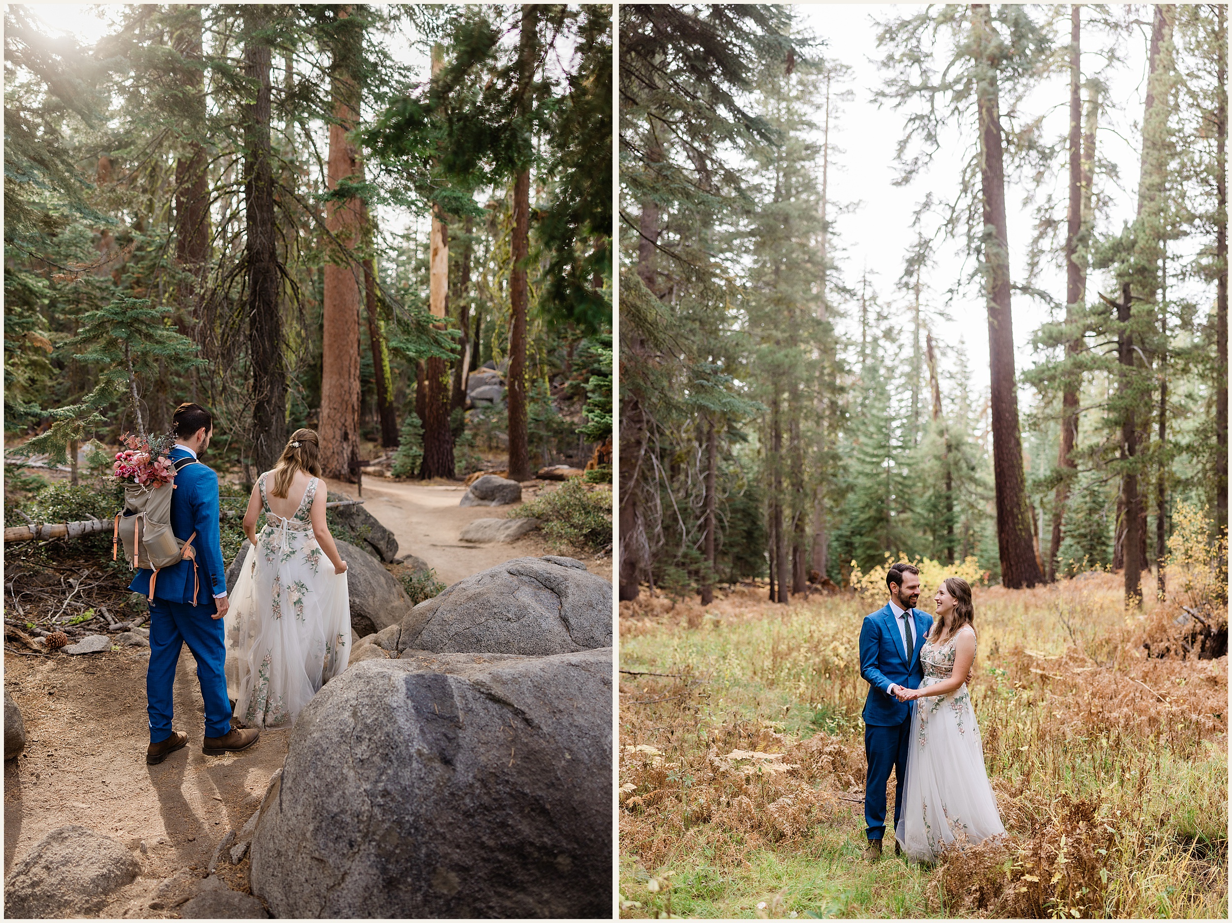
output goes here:
{"type": "MultiPolygon", "coordinates": [[[[975,633],[963,626],[945,643],[924,642],[920,689],[950,678],[956,642],[965,631],[975,633]]],[[[896,837],[907,856],[917,861],[931,861],[955,840],[976,844],[1005,833],[984,771],[979,725],[966,683],[949,695],[914,702],[899,817],[896,837]]]]}

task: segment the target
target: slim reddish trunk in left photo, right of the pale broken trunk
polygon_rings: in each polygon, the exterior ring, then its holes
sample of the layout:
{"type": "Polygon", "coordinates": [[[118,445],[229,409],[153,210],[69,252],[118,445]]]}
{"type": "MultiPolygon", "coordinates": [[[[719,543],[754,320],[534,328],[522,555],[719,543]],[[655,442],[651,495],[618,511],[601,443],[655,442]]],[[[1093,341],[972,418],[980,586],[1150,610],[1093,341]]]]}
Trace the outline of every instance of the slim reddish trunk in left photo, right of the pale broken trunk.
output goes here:
{"type": "MultiPolygon", "coordinates": [[[[519,52],[519,110],[525,118],[530,115],[531,81],[535,78],[535,60],[538,55],[536,12],[533,4],[522,5],[521,28],[517,38],[519,52]]],[[[527,152],[529,153],[529,152],[527,152]]],[[[520,170],[514,180],[514,270],[509,280],[509,477],[529,481],[531,456],[526,415],[526,312],[530,291],[526,282],[526,262],[530,251],[531,171],[520,170]]]]}

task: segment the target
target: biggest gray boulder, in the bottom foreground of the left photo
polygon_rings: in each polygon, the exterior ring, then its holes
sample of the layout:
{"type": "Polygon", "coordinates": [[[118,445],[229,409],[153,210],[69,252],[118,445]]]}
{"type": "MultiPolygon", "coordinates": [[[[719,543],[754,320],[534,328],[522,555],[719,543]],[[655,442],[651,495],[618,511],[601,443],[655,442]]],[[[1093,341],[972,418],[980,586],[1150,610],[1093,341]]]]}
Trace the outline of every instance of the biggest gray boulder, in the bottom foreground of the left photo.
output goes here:
{"type": "Polygon", "coordinates": [[[292,732],[253,893],[275,917],[607,917],[611,657],[347,669],[292,732]]]}

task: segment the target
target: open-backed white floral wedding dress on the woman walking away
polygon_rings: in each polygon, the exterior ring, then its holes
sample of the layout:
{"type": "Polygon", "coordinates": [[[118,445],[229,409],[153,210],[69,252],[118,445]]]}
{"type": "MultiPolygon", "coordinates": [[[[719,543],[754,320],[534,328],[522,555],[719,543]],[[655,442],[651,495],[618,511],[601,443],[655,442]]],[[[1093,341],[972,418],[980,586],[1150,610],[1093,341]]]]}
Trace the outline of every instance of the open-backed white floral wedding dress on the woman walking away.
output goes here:
{"type": "Polygon", "coordinates": [[[249,727],[287,725],[325,680],[346,668],[351,606],[346,573],[317,543],[308,513],[313,478],[291,519],[270,511],[269,473],[257,484],[265,527],[245,543],[244,563],[224,616],[227,695],[249,727]]]}

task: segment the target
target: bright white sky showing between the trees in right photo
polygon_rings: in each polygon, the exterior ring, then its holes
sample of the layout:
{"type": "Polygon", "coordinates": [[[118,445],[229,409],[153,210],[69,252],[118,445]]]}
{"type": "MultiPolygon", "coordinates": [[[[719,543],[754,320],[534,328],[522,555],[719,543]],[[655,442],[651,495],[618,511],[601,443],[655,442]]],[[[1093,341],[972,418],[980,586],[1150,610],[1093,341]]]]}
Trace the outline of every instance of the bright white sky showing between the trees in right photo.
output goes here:
{"type": "MultiPolygon", "coordinates": [[[[837,131],[833,120],[830,127],[832,143],[844,152],[832,154],[830,158],[832,200],[861,203],[853,213],[840,214],[835,219],[835,228],[840,234],[839,244],[845,248],[845,253],[840,255],[843,276],[849,286],[856,286],[862,269],[867,266],[870,280],[875,280],[882,302],[893,298],[906,308],[908,296],[896,292],[894,282],[902,272],[907,249],[914,237],[910,228],[912,214],[928,191],[931,190],[942,201],[956,192],[957,163],[963,154],[960,144],[971,142],[970,127],[963,137],[954,136],[956,142],[954,148],[944,150],[915,182],[909,186],[892,185],[897,175],[894,148],[902,136],[903,116],[888,106],[878,108],[872,99],[873,90],[883,84],[883,75],[876,64],[883,53],[876,46],[876,28],[872,22],[875,18],[886,18],[893,7],[867,4],[812,4],[800,9],[804,22],[819,37],[827,39],[825,55],[853,69],[849,87],[854,91],[855,99],[844,104],[837,131]],[[837,171],[835,164],[839,168],[837,171]]],[[[1122,108],[1100,124],[1096,137],[1099,155],[1119,165],[1121,184],[1125,187],[1111,190],[1112,214],[1110,221],[1105,222],[1103,230],[1120,230],[1122,221],[1132,219],[1136,207],[1140,173],[1137,144],[1141,137],[1138,123],[1142,120],[1146,89],[1148,37],[1140,30],[1137,37],[1125,43],[1127,63],[1111,78],[1111,99],[1117,100],[1122,108]]],[[[1068,26],[1060,41],[1068,42],[1068,26]]],[[[1104,41],[1106,39],[1103,36],[1088,37],[1084,30],[1084,71],[1103,64],[1095,54],[1088,52],[1104,41]]],[[[1068,75],[1060,75],[1042,86],[1027,102],[1027,108],[1032,113],[1053,107],[1045,122],[1046,137],[1060,137],[1067,131],[1068,94],[1068,75]]],[[[1058,164],[1056,175],[1056,198],[1062,203],[1060,212],[1062,219],[1063,203],[1067,200],[1067,169],[1066,164],[1058,164]]],[[[1024,205],[1024,193],[1025,190],[1021,187],[1007,189],[1011,277],[1015,283],[1021,282],[1026,275],[1026,250],[1035,223],[1032,205],[1024,205]]],[[[929,307],[944,307],[941,301],[945,290],[970,269],[970,265],[963,266],[961,248],[946,244],[933,271],[928,274],[934,290],[929,307]]],[[[1092,296],[1094,295],[1092,283],[1099,282],[1103,282],[1101,274],[1093,272],[1088,282],[1088,292],[1092,296]]],[[[1052,261],[1037,285],[1052,293],[1057,301],[1064,302],[1064,271],[1060,258],[1052,261]]],[[[1210,296],[1200,303],[1209,299],[1210,296]]],[[[982,299],[977,292],[971,292],[965,299],[950,306],[949,313],[952,319],[936,325],[940,335],[935,335],[935,339],[952,343],[962,338],[966,343],[972,384],[979,389],[987,388],[988,325],[982,299]]],[[[906,313],[903,317],[906,318],[906,313]]],[[[1032,362],[1032,351],[1029,346],[1031,334],[1047,319],[1047,306],[1039,299],[1014,295],[1014,341],[1018,346],[1015,365],[1019,371],[1032,362]]],[[[857,328],[853,327],[850,331],[859,336],[857,328]]],[[[1020,394],[1023,399],[1027,398],[1026,391],[1021,391],[1020,394]]]]}

